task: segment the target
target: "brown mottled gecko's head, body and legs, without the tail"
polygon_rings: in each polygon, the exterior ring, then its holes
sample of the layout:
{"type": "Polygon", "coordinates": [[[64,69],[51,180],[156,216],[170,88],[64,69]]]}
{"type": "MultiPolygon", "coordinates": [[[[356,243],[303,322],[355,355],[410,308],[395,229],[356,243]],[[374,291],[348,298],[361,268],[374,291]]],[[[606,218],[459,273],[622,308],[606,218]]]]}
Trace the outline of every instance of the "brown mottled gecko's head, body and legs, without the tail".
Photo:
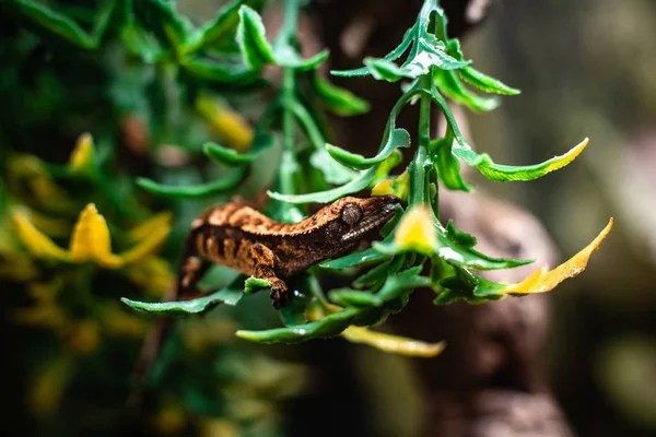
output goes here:
{"type": "Polygon", "coordinates": [[[394,196],[345,197],[293,224],[272,221],[239,200],[212,208],[191,224],[176,299],[195,295],[198,280],[216,263],[269,281],[280,308],[289,300],[284,279],[374,237],[398,204],[394,196]]]}

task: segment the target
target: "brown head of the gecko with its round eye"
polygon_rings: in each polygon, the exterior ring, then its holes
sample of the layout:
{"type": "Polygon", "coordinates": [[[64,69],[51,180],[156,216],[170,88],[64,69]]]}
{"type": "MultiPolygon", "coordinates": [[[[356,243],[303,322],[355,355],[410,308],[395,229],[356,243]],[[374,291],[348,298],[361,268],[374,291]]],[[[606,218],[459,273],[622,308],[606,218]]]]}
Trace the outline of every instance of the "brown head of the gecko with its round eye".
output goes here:
{"type": "Polygon", "coordinates": [[[395,196],[371,198],[345,197],[331,205],[335,226],[340,228],[342,244],[356,243],[366,234],[379,231],[389,221],[401,200],[395,196]]]}

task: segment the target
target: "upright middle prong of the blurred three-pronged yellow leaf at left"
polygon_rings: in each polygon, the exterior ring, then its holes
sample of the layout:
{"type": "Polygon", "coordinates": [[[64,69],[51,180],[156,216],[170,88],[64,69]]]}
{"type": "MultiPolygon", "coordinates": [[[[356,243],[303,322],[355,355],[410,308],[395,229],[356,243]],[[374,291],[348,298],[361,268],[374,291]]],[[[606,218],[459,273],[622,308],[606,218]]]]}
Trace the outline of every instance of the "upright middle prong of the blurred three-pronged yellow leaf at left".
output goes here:
{"type": "Polygon", "coordinates": [[[112,269],[122,264],[122,260],[112,253],[107,222],[98,214],[93,203],[87,204],[80,213],[71,236],[70,252],[71,258],[79,262],[96,261],[112,269]]]}

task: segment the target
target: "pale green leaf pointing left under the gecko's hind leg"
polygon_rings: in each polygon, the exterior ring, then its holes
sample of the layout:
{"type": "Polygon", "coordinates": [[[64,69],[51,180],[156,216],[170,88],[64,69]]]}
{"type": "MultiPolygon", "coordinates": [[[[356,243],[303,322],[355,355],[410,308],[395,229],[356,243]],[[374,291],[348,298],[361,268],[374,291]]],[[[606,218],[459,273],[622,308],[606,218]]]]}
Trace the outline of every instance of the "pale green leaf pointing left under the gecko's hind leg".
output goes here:
{"type": "Polygon", "coordinates": [[[237,305],[242,296],[243,293],[239,288],[226,287],[208,296],[198,297],[191,300],[145,303],[130,300],[126,297],[121,297],[120,300],[138,311],[161,315],[185,315],[201,314],[214,308],[219,304],[234,306],[237,305]]]}

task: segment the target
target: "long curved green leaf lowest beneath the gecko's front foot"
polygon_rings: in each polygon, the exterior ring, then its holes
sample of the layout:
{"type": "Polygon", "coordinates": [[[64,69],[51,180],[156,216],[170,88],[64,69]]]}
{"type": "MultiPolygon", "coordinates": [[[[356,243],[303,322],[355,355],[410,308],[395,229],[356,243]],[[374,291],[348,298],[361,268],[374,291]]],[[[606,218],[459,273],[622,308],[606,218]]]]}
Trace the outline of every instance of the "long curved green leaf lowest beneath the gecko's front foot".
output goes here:
{"type": "Polygon", "coordinates": [[[358,316],[359,309],[344,308],[339,312],[326,316],[323,319],[292,328],[277,328],[263,331],[239,330],[236,335],[255,343],[300,343],[312,339],[327,339],[338,335],[349,328],[358,316]]]}

